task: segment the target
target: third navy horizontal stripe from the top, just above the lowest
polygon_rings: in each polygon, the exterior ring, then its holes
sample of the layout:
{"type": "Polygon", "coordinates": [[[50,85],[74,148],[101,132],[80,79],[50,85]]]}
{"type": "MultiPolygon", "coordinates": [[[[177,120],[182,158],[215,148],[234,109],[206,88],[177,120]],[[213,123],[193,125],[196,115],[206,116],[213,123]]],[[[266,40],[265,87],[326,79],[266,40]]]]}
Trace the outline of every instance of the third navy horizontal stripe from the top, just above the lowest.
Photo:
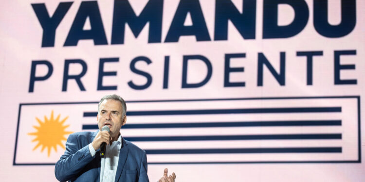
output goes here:
{"type": "Polygon", "coordinates": [[[125,137],[131,142],[206,141],[206,140],[304,140],[341,139],[342,134],[257,134],[257,135],[205,135],[205,136],[139,136],[125,137]]]}

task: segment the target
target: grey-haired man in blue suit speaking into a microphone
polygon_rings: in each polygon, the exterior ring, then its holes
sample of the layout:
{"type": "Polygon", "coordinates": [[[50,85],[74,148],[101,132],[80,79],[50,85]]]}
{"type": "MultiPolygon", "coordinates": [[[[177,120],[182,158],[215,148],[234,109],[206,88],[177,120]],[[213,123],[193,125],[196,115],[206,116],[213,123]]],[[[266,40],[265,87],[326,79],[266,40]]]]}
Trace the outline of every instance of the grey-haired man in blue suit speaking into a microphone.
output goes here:
{"type": "MultiPolygon", "coordinates": [[[[97,132],[70,134],[66,151],[55,165],[60,182],[149,182],[146,151],[124,140],[120,129],[127,122],[127,106],[117,95],[103,97],[98,106],[97,132]],[[108,126],[110,132],[101,131],[108,126]],[[106,154],[100,147],[106,143],[106,154]]],[[[167,176],[167,169],[159,182],[174,182],[175,173],[167,176]]]]}

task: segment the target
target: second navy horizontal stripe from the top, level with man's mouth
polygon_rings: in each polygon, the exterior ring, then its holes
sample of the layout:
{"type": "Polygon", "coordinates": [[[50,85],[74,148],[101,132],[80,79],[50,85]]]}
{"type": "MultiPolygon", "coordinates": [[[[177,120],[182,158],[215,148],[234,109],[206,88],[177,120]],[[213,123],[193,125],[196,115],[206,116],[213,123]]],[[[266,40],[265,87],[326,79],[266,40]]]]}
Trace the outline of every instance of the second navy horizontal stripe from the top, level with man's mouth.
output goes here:
{"type": "MultiPolygon", "coordinates": [[[[341,120],[307,121],[244,121],[244,122],[201,122],[201,123],[153,123],[127,124],[122,129],[147,128],[206,128],[206,127],[264,127],[264,126],[341,126],[341,120]]],[[[98,125],[82,125],[83,130],[97,130],[98,125]]]]}

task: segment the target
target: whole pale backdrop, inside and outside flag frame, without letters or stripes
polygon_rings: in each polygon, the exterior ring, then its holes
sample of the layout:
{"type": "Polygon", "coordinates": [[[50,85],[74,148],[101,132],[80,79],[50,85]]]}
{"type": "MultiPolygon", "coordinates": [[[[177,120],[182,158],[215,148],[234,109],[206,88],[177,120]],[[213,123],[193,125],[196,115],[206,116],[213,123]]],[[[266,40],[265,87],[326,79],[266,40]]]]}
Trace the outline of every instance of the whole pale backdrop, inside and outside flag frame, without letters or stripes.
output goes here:
{"type": "MultiPolygon", "coordinates": [[[[243,0],[232,0],[242,13],[243,0]]],[[[108,45],[94,45],[91,39],[78,41],[77,46],[63,46],[80,7],[75,0],[58,25],[55,45],[41,47],[43,29],[31,4],[44,3],[50,15],[61,1],[57,0],[4,0],[0,11],[0,132],[3,149],[0,160],[1,181],[56,181],[54,165],[24,165],[26,163],[54,163],[63,153],[57,146],[47,156],[47,148],[33,151],[37,142],[29,132],[36,132],[36,117],[43,120],[54,111],[56,117],[69,116],[66,131],[83,131],[83,124],[96,124],[96,117],[83,117],[84,112],[96,112],[97,103],[40,104],[60,102],[97,102],[107,94],[118,94],[126,99],[128,111],[244,109],[272,107],[340,107],[341,113],[266,113],[266,114],[214,114],[172,116],[128,116],[128,124],[196,123],[196,122],[249,122],[292,120],[341,120],[341,126],[297,127],[212,127],[212,128],[165,128],[122,129],[125,137],[131,136],[192,136],[192,135],[244,135],[284,133],[341,133],[342,139],[316,140],[229,140],[229,141],[166,141],[134,142],[143,149],[208,149],[208,148],[259,148],[259,147],[342,147],[341,153],[271,153],[271,154],[153,154],[147,156],[149,163],[157,162],[232,162],[228,164],[150,164],[148,176],[154,182],[163,174],[165,167],[177,174],[177,182],[361,182],[365,179],[365,165],[358,161],[359,147],[365,146],[364,124],[358,116],[365,116],[365,8],[364,0],[356,0],[356,25],[345,36],[329,38],[318,33],[314,27],[313,3],[305,0],[309,8],[306,26],[288,38],[263,38],[264,0],[256,0],[255,38],[245,39],[233,22],[228,21],[227,40],[215,40],[215,1],[199,0],[210,41],[197,41],[196,36],[181,36],[178,42],[165,42],[175,16],[179,0],[164,0],[161,43],[147,43],[149,23],[135,37],[129,25],[125,26],[124,44],[111,45],[113,0],[97,1],[108,45]],[[356,50],[356,55],[341,55],[341,65],[355,65],[355,69],[341,70],[343,80],[356,79],[357,84],[335,84],[335,51],[356,50]],[[323,51],[313,57],[312,85],[307,85],[307,57],[297,56],[298,51],[323,51]],[[280,70],[280,52],[285,52],[285,85],[280,85],[266,66],[263,68],[263,85],[258,86],[258,54],[263,53],[275,71],[280,70]],[[245,53],[244,58],[232,58],[230,67],[244,67],[244,72],[231,72],[230,82],[245,82],[244,87],[224,87],[224,58],[226,54],[245,53]],[[202,55],[212,65],[210,80],[201,87],[182,88],[183,56],[202,55]],[[128,82],[145,84],[146,77],[131,71],[131,61],[145,56],[151,64],[138,62],[136,68],[151,75],[152,83],[146,89],[136,90],[128,82]],[[164,57],[169,56],[168,88],[164,83],[164,57]],[[103,85],[116,85],[116,90],[98,90],[100,58],[118,58],[118,62],[106,63],[104,71],[117,72],[116,76],[103,77],[103,85]],[[87,72],[81,78],[86,91],[81,91],[74,80],[69,80],[67,91],[62,91],[66,59],[81,59],[87,64],[87,72]],[[45,81],[37,81],[34,91],[29,92],[32,61],[47,60],[53,73],[45,81]],[[227,99],[227,98],[287,98],[359,96],[359,98],[332,99],[265,99],[265,100],[210,100],[132,102],[138,100],[179,99],[227,99]],[[358,100],[359,99],[359,100],[358,100]],[[359,102],[358,102],[359,101],[359,102]],[[29,105],[20,104],[27,103],[29,105]],[[359,110],[360,109],[360,110],[359,110]],[[359,115],[358,115],[359,114],[359,115]],[[360,126],[359,126],[360,121],[360,126]],[[360,128],[359,128],[360,127],[360,128]],[[359,141],[361,139],[361,141],[359,141]],[[15,149],[17,148],[17,152],[15,149]],[[16,157],[16,158],[15,158],[16,157]],[[14,159],[16,159],[14,161],[14,159]],[[234,162],[249,162],[234,164],[234,162]],[[272,163],[257,163],[267,161],[272,163]],[[309,161],[312,163],[275,163],[275,161],[309,161]],[[358,161],[355,163],[317,163],[316,161],[358,161]],[[253,164],[250,162],[254,162],[253,164]],[[18,165],[16,165],[18,164],[18,165]],[[21,165],[23,164],[23,165],[21,165]],[[14,175],[17,174],[17,175],[14,175]]],[[[341,23],[341,0],[328,0],[328,21],[331,25],[341,23]]],[[[347,0],[343,0],[348,3],[347,0]]],[[[146,6],[147,0],[129,0],[136,15],[146,6]]],[[[323,10],[322,10],[323,11],[323,10]]],[[[288,4],[278,5],[278,24],[292,23],[294,9],[288,4]]],[[[189,13],[184,25],[194,22],[189,13]]],[[[87,20],[84,29],[90,29],[87,20]]],[[[70,65],[69,74],[79,74],[82,67],[70,65]]],[[[36,76],[44,76],[46,66],[37,66],[36,76]]],[[[200,82],[207,73],[199,61],[188,63],[187,83],[200,82]]],[[[283,73],[281,73],[283,74],[283,73]]],[[[95,131],[95,130],[84,130],[95,131]]],[[[65,135],[67,136],[67,135],[65,135]]],[[[65,144],[65,141],[62,141],[65,144]]],[[[364,158],[364,149],[361,156],[364,158]]]]}

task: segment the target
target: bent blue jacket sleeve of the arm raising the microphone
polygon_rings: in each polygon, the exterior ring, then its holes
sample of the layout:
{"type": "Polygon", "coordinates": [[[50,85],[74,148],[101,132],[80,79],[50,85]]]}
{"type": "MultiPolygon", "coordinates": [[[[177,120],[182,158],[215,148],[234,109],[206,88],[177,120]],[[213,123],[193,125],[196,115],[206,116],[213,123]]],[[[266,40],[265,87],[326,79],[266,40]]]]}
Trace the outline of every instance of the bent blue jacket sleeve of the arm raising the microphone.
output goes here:
{"type": "Polygon", "coordinates": [[[60,182],[71,180],[87,165],[95,156],[91,156],[89,146],[79,147],[76,135],[70,134],[66,142],[66,151],[55,165],[55,177],[60,182]]]}

